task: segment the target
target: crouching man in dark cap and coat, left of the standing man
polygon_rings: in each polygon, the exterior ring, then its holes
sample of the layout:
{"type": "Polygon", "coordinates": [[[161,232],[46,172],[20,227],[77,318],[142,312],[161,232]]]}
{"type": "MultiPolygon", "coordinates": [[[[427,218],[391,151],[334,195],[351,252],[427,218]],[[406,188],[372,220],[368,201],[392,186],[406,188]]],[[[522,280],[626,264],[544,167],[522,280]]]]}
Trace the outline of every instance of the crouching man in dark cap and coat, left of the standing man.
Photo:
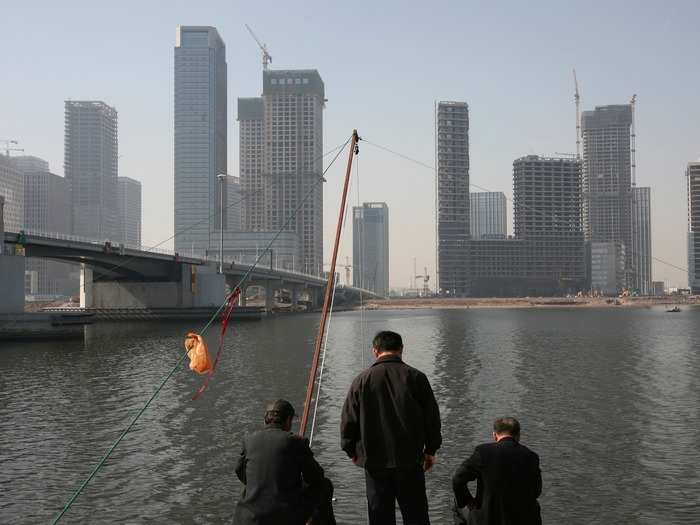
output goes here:
{"type": "Polygon", "coordinates": [[[268,405],[265,427],[246,436],[236,465],[245,488],[236,525],[335,525],[333,485],[323,476],[309,440],[290,432],[294,408],[284,399],[268,405]]]}

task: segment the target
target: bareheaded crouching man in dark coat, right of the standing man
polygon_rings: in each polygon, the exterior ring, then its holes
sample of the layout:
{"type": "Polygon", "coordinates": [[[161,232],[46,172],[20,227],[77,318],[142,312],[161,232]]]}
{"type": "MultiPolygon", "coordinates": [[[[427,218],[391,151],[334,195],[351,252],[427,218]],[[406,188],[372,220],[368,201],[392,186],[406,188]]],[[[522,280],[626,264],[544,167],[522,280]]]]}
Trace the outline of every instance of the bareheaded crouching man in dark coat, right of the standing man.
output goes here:
{"type": "Polygon", "coordinates": [[[455,525],[541,525],[539,456],[520,444],[520,423],[515,418],[497,419],[493,439],[476,447],[452,478],[455,525]],[[474,480],[476,497],[467,486],[474,480]]]}

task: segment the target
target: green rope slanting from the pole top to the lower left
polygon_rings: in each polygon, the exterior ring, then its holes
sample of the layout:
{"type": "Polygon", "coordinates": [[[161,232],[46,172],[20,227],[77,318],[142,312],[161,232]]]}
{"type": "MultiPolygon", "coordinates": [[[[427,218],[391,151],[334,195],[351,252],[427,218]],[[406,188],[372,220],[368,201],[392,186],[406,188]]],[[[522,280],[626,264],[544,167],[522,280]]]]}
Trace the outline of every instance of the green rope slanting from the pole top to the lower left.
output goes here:
{"type": "MultiPolygon", "coordinates": [[[[301,201],[301,203],[293,210],[293,212],[290,214],[289,218],[285,221],[285,223],[284,223],[284,225],[282,226],[282,228],[280,228],[280,230],[276,233],[276,235],[272,238],[272,240],[270,240],[270,242],[268,243],[267,247],[266,247],[265,250],[263,251],[263,254],[261,254],[261,255],[257,258],[257,260],[254,262],[254,264],[251,265],[251,267],[248,269],[248,271],[246,271],[246,273],[245,273],[245,274],[243,275],[243,277],[240,279],[240,281],[238,282],[238,284],[233,288],[233,291],[231,292],[231,294],[228,294],[228,295],[226,296],[226,300],[217,308],[217,310],[216,310],[216,312],[214,313],[214,315],[212,315],[212,317],[209,319],[209,321],[206,323],[206,325],[204,325],[204,328],[202,328],[202,330],[200,330],[201,334],[204,334],[204,333],[207,331],[207,329],[209,328],[209,326],[211,326],[211,324],[213,323],[214,319],[216,319],[216,317],[219,315],[219,312],[221,312],[221,310],[222,310],[222,309],[226,306],[226,304],[228,303],[228,300],[229,300],[230,296],[231,296],[233,293],[235,293],[236,288],[239,288],[239,287],[241,286],[241,284],[243,284],[243,282],[248,278],[248,276],[249,276],[249,275],[251,274],[251,272],[254,270],[255,266],[257,266],[257,264],[258,264],[258,263],[260,262],[260,260],[262,259],[262,255],[264,255],[264,253],[265,253],[267,250],[269,250],[270,246],[272,246],[272,244],[273,244],[273,243],[275,242],[275,240],[280,236],[280,234],[284,231],[284,229],[287,228],[287,226],[288,226],[289,223],[291,222],[291,219],[299,212],[299,210],[301,209],[301,207],[304,205],[304,203],[305,203],[306,200],[309,198],[309,196],[312,194],[312,192],[316,189],[316,187],[317,187],[319,184],[321,184],[322,182],[325,181],[325,178],[324,178],[325,174],[328,172],[328,170],[331,168],[331,166],[333,166],[333,164],[335,163],[336,159],[340,156],[340,153],[343,151],[343,149],[345,149],[345,146],[347,146],[347,144],[350,142],[351,139],[352,139],[352,137],[348,138],[348,139],[345,141],[345,143],[343,144],[342,148],[340,148],[340,149],[338,150],[338,152],[336,153],[335,157],[333,157],[333,160],[332,160],[332,161],[330,162],[330,164],[326,167],[326,169],[323,170],[323,173],[322,173],[321,176],[319,177],[319,180],[311,187],[311,189],[310,189],[309,192],[306,194],[306,196],[305,196],[304,199],[301,201]]],[[[333,150],[331,150],[331,151],[333,151],[333,150]]],[[[173,374],[175,373],[175,371],[179,368],[180,364],[185,360],[186,357],[187,357],[187,352],[184,352],[184,353],[180,356],[180,358],[177,360],[177,362],[175,363],[175,366],[173,366],[173,368],[170,370],[170,372],[168,372],[168,374],[167,374],[167,375],[163,378],[163,380],[160,382],[160,384],[158,385],[158,387],[156,388],[156,390],[153,392],[153,394],[151,395],[151,397],[148,398],[148,401],[146,401],[146,403],[143,405],[143,407],[141,407],[141,409],[136,413],[136,415],[134,416],[134,418],[133,418],[133,419],[131,420],[131,422],[126,426],[126,428],[122,431],[122,433],[119,435],[119,437],[117,438],[117,440],[107,449],[107,451],[105,452],[105,454],[102,456],[102,459],[100,459],[100,461],[97,463],[97,465],[95,465],[95,467],[93,468],[93,470],[92,470],[92,472],[90,473],[90,475],[89,475],[87,478],[85,478],[85,480],[80,484],[80,486],[78,487],[78,489],[77,489],[77,490],[73,493],[73,495],[68,499],[68,501],[67,501],[66,504],[64,505],[64,507],[63,507],[63,509],[61,510],[61,512],[60,512],[60,513],[54,518],[54,520],[51,522],[52,525],[56,525],[56,523],[58,523],[58,522],[61,520],[61,518],[65,515],[65,513],[68,512],[68,510],[71,508],[71,506],[73,505],[73,503],[75,502],[75,500],[78,498],[78,496],[80,496],[80,494],[83,492],[83,490],[84,490],[85,487],[88,485],[88,483],[90,483],[90,481],[95,477],[95,475],[97,474],[97,472],[104,466],[104,464],[107,462],[107,459],[109,459],[109,457],[112,455],[112,452],[114,452],[114,449],[117,448],[117,446],[119,445],[119,443],[121,443],[121,441],[124,439],[124,437],[125,437],[125,436],[129,433],[129,431],[133,428],[133,426],[134,426],[134,425],[136,424],[136,422],[139,420],[139,418],[141,417],[141,415],[143,415],[143,413],[148,409],[148,407],[151,405],[151,403],[153,402],[153,400],[158,396],[158,394],[159,394],[160,391],[163,389],[163,387],[165,386],[165,384],[166,384],[166,383],[168,382],[168,380],[172,377],[172,375],[173,375],[173,374]]]]}

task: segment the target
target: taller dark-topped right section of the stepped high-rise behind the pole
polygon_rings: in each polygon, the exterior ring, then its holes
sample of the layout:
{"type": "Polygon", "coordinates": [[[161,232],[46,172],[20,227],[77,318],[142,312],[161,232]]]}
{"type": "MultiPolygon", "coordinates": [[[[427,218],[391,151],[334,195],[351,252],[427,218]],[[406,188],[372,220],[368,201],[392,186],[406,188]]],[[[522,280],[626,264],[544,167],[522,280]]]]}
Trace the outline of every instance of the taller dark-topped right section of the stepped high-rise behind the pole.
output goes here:
{"type": "Polygon", "coordinates": [[[282,228],[296,213],[285,229],[299,237],[299,267],[321,275],[323,80],[315,69],[264,71],[262,98],[265,229],[282,228]]]}

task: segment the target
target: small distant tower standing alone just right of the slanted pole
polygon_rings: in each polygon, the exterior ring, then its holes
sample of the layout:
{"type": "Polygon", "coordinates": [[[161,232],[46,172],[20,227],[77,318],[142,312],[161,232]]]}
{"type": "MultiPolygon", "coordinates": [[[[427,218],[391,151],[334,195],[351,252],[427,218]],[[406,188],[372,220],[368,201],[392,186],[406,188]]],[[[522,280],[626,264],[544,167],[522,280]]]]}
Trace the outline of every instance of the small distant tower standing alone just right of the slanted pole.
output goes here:
{"type": "Polygon", "coordinates": [[[353,286],[389,294],[389,208],[365,202],[352,209],[353,286]]]}

